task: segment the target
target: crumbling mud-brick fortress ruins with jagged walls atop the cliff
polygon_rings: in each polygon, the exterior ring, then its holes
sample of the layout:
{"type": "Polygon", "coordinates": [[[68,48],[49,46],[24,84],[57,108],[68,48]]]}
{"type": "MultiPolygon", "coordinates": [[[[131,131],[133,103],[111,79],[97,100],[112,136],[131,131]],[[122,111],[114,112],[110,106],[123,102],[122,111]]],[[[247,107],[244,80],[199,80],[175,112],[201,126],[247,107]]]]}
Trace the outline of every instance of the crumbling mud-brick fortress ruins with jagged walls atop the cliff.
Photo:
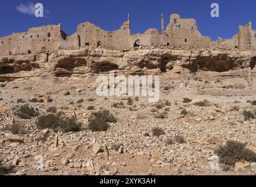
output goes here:
{"type": "Polygon", "coordinates": [[[172,14],[166,28],[163,15],[161,19],[161,33],[157,29],[148,29],[144,34],[131,34],[129,15],[121,28],[113,32],[102,30],[89,22],[78,25],[77,32],[71,36],[63,32],[60,24],[36,27],[25,33],[0,38],[0,56],[76,50],[86,46],[112,50],[130,50],[142,46],[256,50],[256,30],[252,30],[251,22],[239,26],[239,33],[232,39],[211,41],[210,37],[200,34],[194,19],[182,19],[178,14],[172,14]]]}

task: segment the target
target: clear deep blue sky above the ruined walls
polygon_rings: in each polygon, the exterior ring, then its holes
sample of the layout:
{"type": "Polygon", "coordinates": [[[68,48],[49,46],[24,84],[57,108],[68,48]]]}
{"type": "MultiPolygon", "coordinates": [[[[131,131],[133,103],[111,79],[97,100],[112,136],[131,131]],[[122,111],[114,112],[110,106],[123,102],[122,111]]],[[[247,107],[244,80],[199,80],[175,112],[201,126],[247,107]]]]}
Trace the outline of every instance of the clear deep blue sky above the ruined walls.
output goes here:
{"type": "Polygon", "coordinates": [[[62,23],[64,32],[76,32],[79,23],[89,21],[104,30],[117,30],[131,15],[132,33],[144,33],[148,28],[161,30],[161,13],[165,15],[165,26],[172,13],[182,18],[196,19],[203,36],[216,40],[218,36],[231,38],[238,33],[238,25],[252,21],[256,29],[255,0],[1,0],[0,37],[13,32],[26,32],[29,27],[62,23]],[[45,18],[17,11],[16,6],[41,2],[49,13],[45,18]],[[220,18],[211,18],[210,5],[220,5],[220,18]]]}

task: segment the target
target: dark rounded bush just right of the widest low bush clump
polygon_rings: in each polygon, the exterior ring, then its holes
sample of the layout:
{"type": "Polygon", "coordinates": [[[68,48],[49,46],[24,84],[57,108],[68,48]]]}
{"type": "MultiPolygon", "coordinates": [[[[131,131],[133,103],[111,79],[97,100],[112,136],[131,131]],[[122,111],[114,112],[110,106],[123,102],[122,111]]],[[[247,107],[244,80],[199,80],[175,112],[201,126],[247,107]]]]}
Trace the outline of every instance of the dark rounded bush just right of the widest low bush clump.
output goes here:
{"type": "Polygon", "coordinates": [[[116,123],[117,119],[109,110],[100,110],[91,114],[88,128],[92,131],[107,131],[110,127],[108,122],[116,123]]]}

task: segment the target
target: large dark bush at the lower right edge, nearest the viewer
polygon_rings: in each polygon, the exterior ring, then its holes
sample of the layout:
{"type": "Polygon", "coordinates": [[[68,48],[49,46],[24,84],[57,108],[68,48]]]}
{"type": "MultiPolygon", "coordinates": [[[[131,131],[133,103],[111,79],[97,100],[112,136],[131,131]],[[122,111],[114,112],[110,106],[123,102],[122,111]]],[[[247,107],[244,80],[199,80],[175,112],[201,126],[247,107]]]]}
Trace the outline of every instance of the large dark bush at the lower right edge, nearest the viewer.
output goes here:
{"type": "Polygon", "coordinates": [[[227,141],[226,145],[217,148],[215,153],[220,157],[220,163],[227,165],[240,161],[256,162],[256,153],[245,147],[245,143],[227,141]]]}

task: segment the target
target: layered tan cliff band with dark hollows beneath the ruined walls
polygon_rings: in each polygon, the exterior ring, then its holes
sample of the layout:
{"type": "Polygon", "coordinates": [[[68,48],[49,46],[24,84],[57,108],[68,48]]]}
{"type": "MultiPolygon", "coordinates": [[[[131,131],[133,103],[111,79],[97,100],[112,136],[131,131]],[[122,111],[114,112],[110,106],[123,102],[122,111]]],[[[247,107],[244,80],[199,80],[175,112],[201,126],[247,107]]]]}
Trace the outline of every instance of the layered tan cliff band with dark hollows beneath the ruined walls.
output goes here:
{"type": "Polygon", "coordinates": [[[0,57],[0,79],[33,76],[71,77],[116,71],[123,74],[183,74],[250,77],[255,75],[256,51],[62,50],[52,54],[0,57]],[[252,71],[251,71],[252,70],[252,71]]]}

